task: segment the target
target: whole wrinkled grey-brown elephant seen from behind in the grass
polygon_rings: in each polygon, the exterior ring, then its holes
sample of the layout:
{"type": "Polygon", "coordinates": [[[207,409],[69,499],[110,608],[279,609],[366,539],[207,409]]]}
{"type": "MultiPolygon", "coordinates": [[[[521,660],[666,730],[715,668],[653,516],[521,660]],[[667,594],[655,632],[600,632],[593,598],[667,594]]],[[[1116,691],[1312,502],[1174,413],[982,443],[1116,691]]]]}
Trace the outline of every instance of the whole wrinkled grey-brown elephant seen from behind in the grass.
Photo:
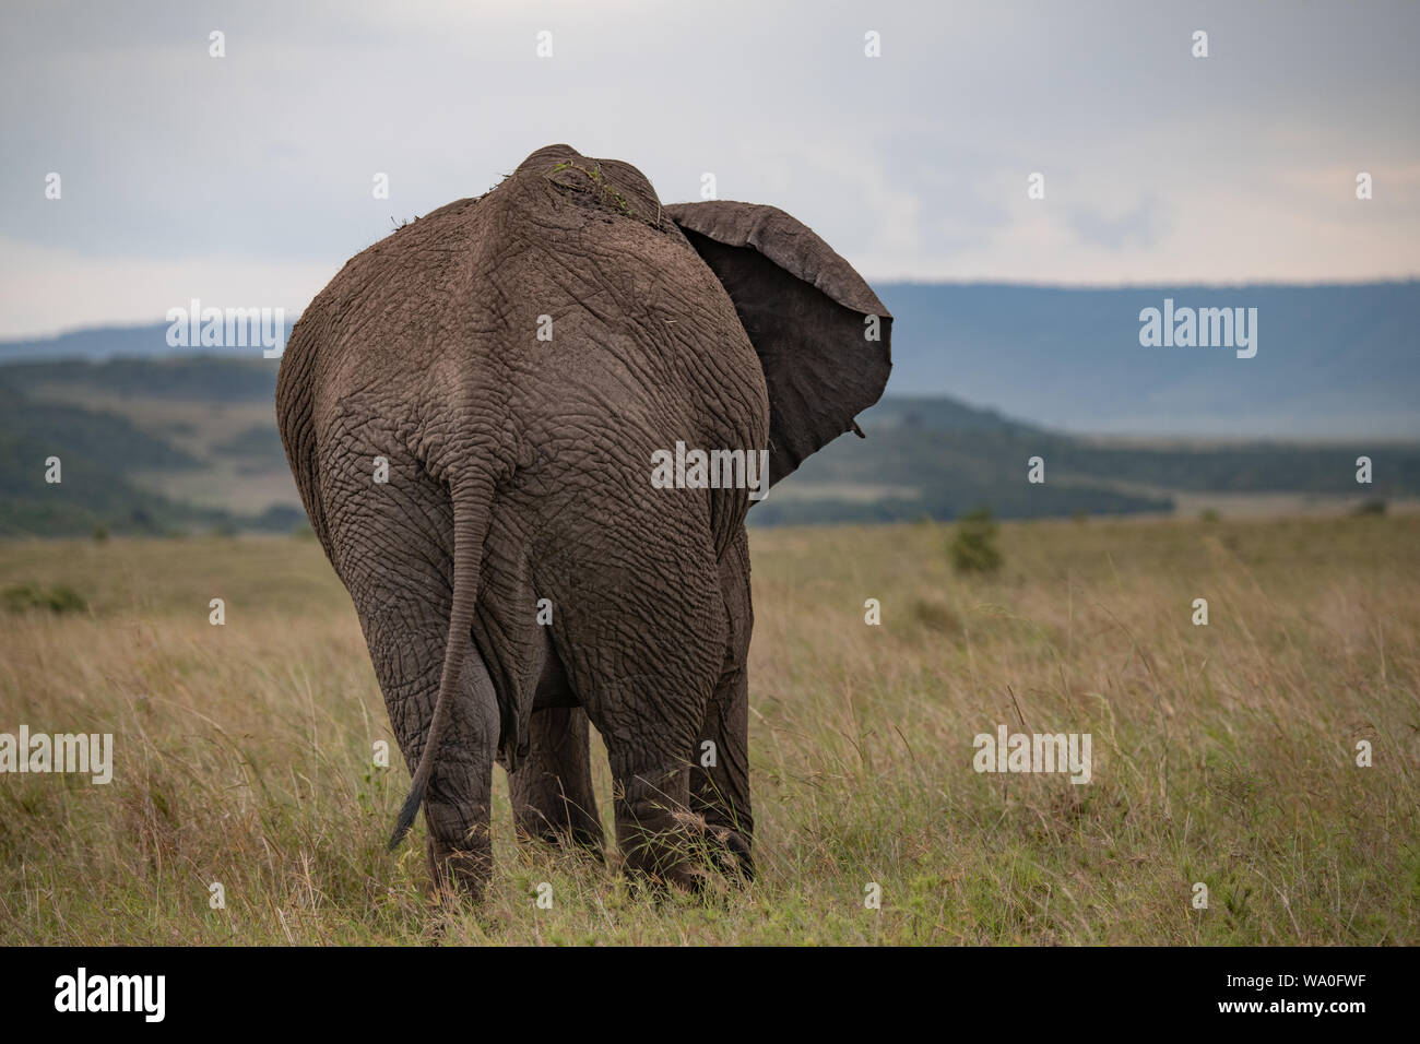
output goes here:
{"type": "Polygon", "coordinates": [[[520,838],[602,852],[589,726],[630,874],[751,878],[746,514],[862,435],[890,331],[782,210],[662,206],[636,168],[568,145],[311,301],[281,440],[412,774],[389,847],[422,807],[436,893],[491,879],[494,763],[520,838]]]}

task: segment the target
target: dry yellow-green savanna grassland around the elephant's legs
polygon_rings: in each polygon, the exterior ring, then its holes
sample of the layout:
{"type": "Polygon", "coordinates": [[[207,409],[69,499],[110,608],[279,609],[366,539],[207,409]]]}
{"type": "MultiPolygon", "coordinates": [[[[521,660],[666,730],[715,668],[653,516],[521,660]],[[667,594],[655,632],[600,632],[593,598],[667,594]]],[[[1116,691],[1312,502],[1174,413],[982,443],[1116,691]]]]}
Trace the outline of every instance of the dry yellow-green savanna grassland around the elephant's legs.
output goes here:
{"type": "Polygon", "coordinates": [[[753,533],[754,885],[520,845],[497,770],[454,912],[422,825],[383,851],[408,773],[314,541],[0,544],[87,605],[0,602],[0,732],[115,737],[108,785],[0,777],[0,943],[1420,942],[1420,517],[1005,524],[994,575],[950,537],[753,533]],[[1001,723],[1091,733],[1092,781],[974,773],[1001,723]]]}

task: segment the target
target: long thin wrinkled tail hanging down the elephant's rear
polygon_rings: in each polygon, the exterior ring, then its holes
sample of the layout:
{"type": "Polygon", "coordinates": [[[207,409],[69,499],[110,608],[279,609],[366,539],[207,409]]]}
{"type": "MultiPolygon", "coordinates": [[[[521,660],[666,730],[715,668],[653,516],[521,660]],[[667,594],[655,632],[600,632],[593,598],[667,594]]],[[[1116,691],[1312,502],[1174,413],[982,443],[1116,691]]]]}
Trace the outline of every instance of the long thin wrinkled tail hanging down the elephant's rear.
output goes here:
{"type": "Polygon", "coordinates": [[[395,851],[415,825],[415,815],[423,804],[425,788],[429,785],[439,756],[439,744],[453,713],[453,693],[459,689],[459,675],[469,643],[473,641],[473,607],[479,597],[479,567],[483,561],[483,540],[488,531],[491,489],[491,483],[479,482],[454,482],[449,487],[453,499],[453,608],[449,612],[444,666],[439,679],[433,719],[429,723],[429,737],[419,756],[409,797],[399,810],[395,832],[389,838],[389,851],[395,851]]]}

